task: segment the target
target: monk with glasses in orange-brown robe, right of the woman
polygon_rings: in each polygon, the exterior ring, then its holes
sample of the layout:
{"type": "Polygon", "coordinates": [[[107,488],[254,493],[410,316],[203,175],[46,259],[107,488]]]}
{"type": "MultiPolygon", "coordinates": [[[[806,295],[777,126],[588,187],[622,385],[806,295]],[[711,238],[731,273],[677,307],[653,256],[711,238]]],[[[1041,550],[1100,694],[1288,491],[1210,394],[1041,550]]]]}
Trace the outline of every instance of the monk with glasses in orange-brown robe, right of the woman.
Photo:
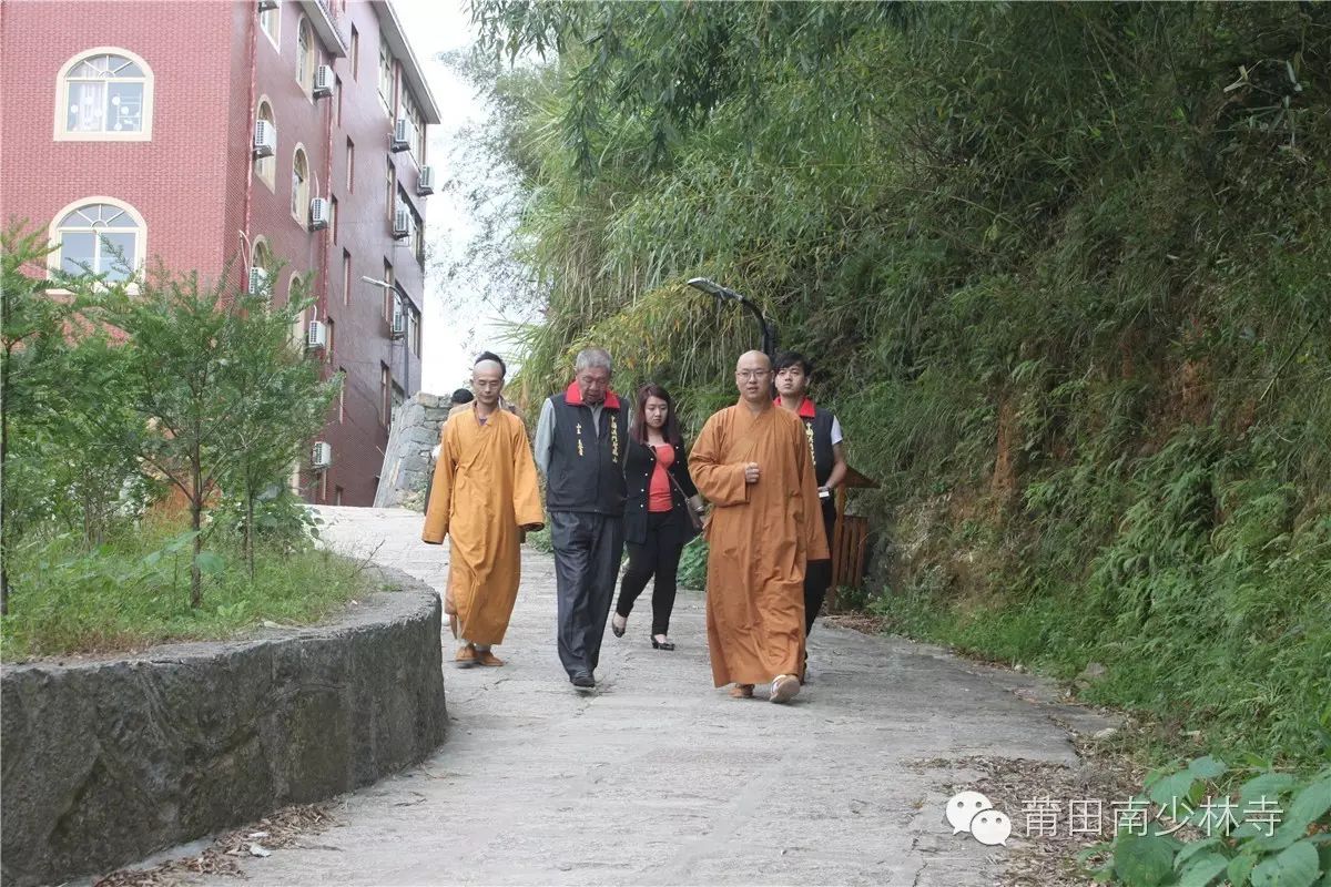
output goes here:
{"type": "Polygon", "coordinates": [[[800,692],[804,572],[828,557],[804,423],[772,404],[772,362],[739,359],[740,402],[703,426],[689,471],[715,505],[707,525],[707,645],[716,686],[772,702],[800,692]]]}

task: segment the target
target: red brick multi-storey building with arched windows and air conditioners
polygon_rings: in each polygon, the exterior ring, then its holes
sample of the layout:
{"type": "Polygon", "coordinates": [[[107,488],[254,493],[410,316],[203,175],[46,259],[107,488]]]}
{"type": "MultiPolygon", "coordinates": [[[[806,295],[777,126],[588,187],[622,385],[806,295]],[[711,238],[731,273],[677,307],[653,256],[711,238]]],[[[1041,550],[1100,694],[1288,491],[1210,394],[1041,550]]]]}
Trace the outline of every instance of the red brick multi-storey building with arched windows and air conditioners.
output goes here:
{"type": "Polygon", "coordinates": [[[0,217],[48,229],[53,262],[112,270],[109,243],[204,278],[233,262],[240,283],[276,258],[274,298],[313,287],[303,328],[346,383],[331,463],[301,485],[369,505],[391,408],[421,387],[439,122],[393,5],[3,0],[0,81],[0,217]]]}

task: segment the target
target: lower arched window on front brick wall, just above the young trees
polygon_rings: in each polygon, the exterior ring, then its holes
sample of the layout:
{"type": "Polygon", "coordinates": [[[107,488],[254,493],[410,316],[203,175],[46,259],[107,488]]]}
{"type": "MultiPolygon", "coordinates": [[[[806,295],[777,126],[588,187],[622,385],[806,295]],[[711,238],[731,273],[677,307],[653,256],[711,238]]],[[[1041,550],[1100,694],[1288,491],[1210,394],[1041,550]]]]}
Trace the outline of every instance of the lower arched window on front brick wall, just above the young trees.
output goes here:
{"type": "Polygon", "coordinates": [[[144,221],[128,205],[95,197],[67,207],[52,225],[61,271],[128,279],[144,263],[144,221]]]}

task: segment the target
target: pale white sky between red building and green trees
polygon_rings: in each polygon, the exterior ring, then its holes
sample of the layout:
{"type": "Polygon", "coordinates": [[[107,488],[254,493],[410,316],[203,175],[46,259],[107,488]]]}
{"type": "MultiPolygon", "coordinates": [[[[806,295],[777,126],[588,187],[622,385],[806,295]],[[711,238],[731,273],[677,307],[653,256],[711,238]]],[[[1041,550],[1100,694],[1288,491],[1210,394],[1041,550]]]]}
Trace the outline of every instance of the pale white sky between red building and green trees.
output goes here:
{"type": "MultiPolygon", "coordinates": [[[[454,174],[450,154],[457,148],[459,132],[475,125],[486,113],[475,89],[437,60],[442,52],[473,44],[467,0],[395,0],[394,8],[439,105],[443,122],[430,128],[426,153],[437,170],[435,181],[447,182],[454,174]]],[[[500,324],[530,319],[530,309],[506,311],[502,303],[479,298],[483,282],[467,285],[443,279],[449,259],[462,254],[475,230],[466,201],[437,186],[435,194],[426,199],[426,241],[431,261],[426,267],[421,382],[422,390],[429,394],[450,394],[469,382],[471,362],[478,351],[492,350],[507,358],[511,346],[503,340],[500,324]]]]}

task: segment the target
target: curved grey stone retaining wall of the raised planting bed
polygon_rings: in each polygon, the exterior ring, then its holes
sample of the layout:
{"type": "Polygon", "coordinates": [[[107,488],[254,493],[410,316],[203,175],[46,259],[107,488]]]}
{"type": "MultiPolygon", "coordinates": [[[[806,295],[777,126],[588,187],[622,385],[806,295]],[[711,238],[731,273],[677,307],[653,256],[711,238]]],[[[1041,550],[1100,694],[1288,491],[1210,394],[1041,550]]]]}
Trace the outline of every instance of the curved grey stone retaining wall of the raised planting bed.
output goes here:
{"type": "Polygon", "coordinates": [[[335,622],[0,669],[4,884],[101,872],[443,742],[439,596],[383,570],[335,622]]]}

